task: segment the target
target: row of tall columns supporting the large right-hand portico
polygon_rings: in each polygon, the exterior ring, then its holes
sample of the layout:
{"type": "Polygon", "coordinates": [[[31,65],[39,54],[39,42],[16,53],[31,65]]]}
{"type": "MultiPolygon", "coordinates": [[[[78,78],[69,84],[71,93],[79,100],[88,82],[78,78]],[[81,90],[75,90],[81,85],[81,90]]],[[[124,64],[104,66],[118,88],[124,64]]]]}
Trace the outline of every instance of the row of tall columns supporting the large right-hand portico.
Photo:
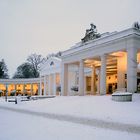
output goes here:
{"type": "MultiPolygon", "coordinates": [[[[136,92],[137,91],[137,48],[131,46],[126,50],[127,60],[126,61],[126,75],[127,75],[127,91],[136,92]]],[[[94,57],[94,56],[93,56],[94,57]]],[[[102,54],[99,56],[101,65],[98,74],[98,85],[97,90],[100,95],[106,94],[106,67],[107,67],[107,54],[102,54]]],[[[88,58],[88,57],[87,57],[88,58]]],[[[120,59],[120,58],[119,58],[120,59]]],[[[118,59],[118,61],[119,61],[118,59]]],[[[85,80],[84,80],[84,60],[80,59],[79,63],[79,95],[85,94],[85,80]]],[[[124,60],[121,60],[121,62],[124,60]]],[[[125,88],[125,72],[121,69],[121,62],[117,62],[117,88],[125,88]],[[119,66],[120,65],[120,66],[119,66]],[[123,76],[122,76],[123,75],[123,76]]],[[[72,62],[71,62],[72,63],[72,62]]],[[[74,62],[73,62],[74,63],[74,62]]],[[[70,63],[64,63],[62,61],[62,71],[61,71],[61,92],[62,95],[68,95],[68,66],[70,63]]],[[[92,78],[91,78],[91,92],[95,93],[95,69],[92,67],[92,78]]]]}

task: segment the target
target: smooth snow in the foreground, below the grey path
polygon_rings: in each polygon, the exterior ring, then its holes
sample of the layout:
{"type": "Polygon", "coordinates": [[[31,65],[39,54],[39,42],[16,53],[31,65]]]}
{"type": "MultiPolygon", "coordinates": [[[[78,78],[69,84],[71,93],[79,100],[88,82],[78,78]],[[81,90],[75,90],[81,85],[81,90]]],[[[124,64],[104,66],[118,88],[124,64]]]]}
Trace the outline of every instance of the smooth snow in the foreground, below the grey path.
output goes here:
{"type": "MultiPolygon", "coordinates": [[[[29,103],[26,105],[29,105],[29,103]]],[[[23,106],[23,104],[21,106],[23,106]]],[[[57,121],[0,109],[0,140],[79,139],[139,140],[140,135],[128,132],[112,131],[109,129],[95,128],[70,122],[57,121]]]]}

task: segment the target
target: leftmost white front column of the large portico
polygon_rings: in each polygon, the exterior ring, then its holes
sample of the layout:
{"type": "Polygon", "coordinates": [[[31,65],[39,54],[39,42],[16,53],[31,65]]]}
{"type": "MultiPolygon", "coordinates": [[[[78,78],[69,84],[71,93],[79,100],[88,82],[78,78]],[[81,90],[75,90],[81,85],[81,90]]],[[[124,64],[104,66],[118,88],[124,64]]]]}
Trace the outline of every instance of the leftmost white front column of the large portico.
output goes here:
{"type": "Polygon", "coordinates": [[[68,64],[62,63],[61,70],[61,95],[66,96],[68,92],[68,64]]]}

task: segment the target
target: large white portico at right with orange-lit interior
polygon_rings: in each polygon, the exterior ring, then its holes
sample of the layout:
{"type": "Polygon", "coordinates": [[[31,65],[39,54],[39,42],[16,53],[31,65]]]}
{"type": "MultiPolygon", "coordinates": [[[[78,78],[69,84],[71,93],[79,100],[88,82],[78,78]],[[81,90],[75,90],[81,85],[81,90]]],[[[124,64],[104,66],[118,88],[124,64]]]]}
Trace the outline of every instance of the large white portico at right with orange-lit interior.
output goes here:
{"type": "Polygon", "coordinates": [[[137,92],[140,63],[140,30],[130,28],[121,32],[105,33],[100,38],[79,42],[62,53],[62,95],[68,95],[68,67],[76,63],[78,71],[78,92],[85,95],[85,69],[90,68],[91,94],[105,95],[124,88],[137,92]]]}

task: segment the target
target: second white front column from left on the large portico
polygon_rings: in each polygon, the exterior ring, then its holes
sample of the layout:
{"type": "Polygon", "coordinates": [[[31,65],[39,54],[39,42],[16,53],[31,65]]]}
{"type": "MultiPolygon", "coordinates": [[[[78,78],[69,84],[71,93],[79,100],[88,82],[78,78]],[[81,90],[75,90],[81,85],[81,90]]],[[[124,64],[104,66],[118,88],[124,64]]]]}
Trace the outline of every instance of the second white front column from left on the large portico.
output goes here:
{"type": "Polygon", "coordinates": [[[80,60],[79,65],[79,95],[84,95],[84,61],[80,60]]]}

